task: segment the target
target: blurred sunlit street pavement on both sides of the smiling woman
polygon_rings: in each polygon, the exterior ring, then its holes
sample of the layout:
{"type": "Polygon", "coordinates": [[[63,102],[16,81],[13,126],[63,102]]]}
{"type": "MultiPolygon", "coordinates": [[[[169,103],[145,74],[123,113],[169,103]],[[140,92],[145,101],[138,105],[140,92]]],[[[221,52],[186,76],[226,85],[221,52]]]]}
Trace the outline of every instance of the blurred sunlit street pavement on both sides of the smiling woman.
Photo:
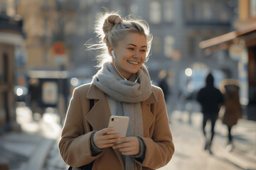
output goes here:
{"type": "MultiPolygon", "coordinates": [[[[9,164],[11,170],[68,169],[58,153],[61,132],[58,115],[48,109],[43,118],[32,118],[26,106],[16,110],[17,122],[23,132],[6,132],[0,135],[0,163],[9,164]]],[[[201,113],[174,111],[169,114],[174,138],[175,153],[171,162],[159,170],[238,170],[256,169],[256,123],[240,120],[233,130],[235,149],[225,148],[227,130],[220,120],[215,125],[213,154],[205,151],[201,132],[201,113]]],[[[208,126],[206,127],[208,128],[208,126]]]]}

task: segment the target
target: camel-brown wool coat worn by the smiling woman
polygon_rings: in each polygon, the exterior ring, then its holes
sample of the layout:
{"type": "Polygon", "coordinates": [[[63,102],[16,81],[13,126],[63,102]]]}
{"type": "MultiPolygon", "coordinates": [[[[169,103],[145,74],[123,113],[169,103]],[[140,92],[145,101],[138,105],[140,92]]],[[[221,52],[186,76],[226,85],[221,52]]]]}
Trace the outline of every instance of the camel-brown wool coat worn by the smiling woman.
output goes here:
{"type": "MultiPolygon", "coordinates": [[[[134,159],[143,166],[143,170],[166,165],[174,154],[164,94],[159,87],[152,86],[152,89],[149,98],[141,103],[144,136],[140,138],[146,146],[145,159],[142,163],[134,159]]],[[[96,157],[91,154],[90,137],[95,130],[107,128],[110,115],[105,94],[94,84],[85,84],[75,89],[59,142],[60,154],[66,164],[79,167],[94,161],[93,170],[124,170],[122,155],[112,147],[104,149],[96,157]],[[95,101],[90,111],[88,99],[95,101]],[[89,123],[94,130],[92,132],[89,123]]]]}

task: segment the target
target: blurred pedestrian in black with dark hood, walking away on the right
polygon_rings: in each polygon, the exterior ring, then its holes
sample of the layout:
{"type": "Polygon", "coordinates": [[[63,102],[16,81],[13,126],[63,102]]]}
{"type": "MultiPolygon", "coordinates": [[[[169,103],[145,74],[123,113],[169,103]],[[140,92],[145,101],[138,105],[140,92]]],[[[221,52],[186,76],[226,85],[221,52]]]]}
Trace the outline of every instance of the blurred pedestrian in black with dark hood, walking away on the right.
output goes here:
{"type": "Polygon", "coordinates": [[[220,90],[214,86],[213,74],[209,73],[206,77],[206,86],[198,91],[197,101],[201,104],[201,111],[203,113],[203,135],[206,138],[205,149],[209,149],[210,154],[211,145],[213,143],[213,137],[215,135],[215,122],[218,118],[218,113],[220,111],[220,106],[223,103],[223,94],[220,90]],[[206,135],[206,123],[210,120],[211,122],[211,136],[210,141],[206,135]]]}

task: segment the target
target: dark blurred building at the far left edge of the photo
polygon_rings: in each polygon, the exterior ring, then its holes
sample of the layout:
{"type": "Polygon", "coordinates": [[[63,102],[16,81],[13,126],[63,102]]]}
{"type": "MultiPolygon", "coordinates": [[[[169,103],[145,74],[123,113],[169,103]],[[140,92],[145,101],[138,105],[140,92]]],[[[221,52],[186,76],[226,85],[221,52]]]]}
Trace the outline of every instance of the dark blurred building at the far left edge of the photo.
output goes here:
{"type": "Polygon", "coordinates": [[[0,1],[0,132],[21,130],[16,123],[16,53],[23,43],[22,21],[14,1],[0,1]]]}

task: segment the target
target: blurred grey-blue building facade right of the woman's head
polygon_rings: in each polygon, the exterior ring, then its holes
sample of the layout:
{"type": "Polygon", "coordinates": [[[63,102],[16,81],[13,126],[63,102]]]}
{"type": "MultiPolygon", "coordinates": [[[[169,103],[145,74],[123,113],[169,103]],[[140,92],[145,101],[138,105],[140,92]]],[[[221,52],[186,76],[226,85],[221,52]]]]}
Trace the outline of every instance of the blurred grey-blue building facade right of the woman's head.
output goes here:
{"type": "MultiPolygon", "coordinates": [[[[170,82],[172,96],[189,96],[203,86],[204,76],[215,70],[224,77],[225,70],[234,72],[234,61],[223,52],[220,57],[204,57],[198,47],[201,40],[228,33],[233,29],[237,1],[134,1],[134,12],[149,21],[154,35],[151,58],[147,63],[151,75],[159,69],[166,69],[172,75],[170,82]],[[139,5],[137,6],[136,3],[139,5]],[[185,70],[191,68],[193,74],[186,76],[185,70]],[[223,73],[223,74],[222,74],[223,73]]],[[[132,10],[131,10],[132,11],[132,10]]]]}

